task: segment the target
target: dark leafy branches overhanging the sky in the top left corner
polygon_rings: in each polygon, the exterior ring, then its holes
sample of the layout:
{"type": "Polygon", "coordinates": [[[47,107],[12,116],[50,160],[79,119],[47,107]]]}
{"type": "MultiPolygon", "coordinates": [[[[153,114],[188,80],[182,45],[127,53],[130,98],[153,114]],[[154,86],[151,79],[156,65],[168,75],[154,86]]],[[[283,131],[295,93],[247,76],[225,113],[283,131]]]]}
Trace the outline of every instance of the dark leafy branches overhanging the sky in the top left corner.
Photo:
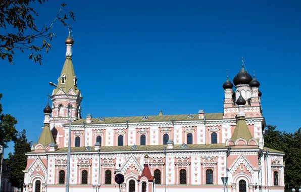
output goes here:
{"type": "Polygon", "coordinates": [[[72,11],[64,10],[66,4],[62,4],[57,17],[49,26],[37,27],[34,23],[35,17],[38,13],[31,8],[34,2],[43,4],[48,0],[5,0],[0,4],[0,27],[10,30],[5,34],[0,34],[0,57],[7,59],[11,64],[13,63],[13,55],[16,50],[30,51],[29,59],[34,62],[39,62],[41,65],[42,56],[40,52],[46,50],[48,53],[51,49],[51,42],[55,34],[52,31],[54,23],[59,20],[64,26],[67,26],[65,21],[68,18],[74,20],[72,11]],[[65,13],[68,12],[69,16],[65,13]],[[41,39],[40,43],[36,39],[41,39]]]}

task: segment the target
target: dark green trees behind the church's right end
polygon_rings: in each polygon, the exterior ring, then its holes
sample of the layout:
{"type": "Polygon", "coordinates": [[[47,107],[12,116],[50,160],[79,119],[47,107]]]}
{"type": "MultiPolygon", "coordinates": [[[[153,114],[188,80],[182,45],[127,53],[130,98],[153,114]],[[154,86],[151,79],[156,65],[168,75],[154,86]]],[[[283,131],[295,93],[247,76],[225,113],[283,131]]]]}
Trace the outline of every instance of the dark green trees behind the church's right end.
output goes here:
{"type": "Polygon", "coordinates": [[[285,187],[298,189],[301,184],[301,128],[294,133],[279,131],[268,125],[264,133],[265,147],[285,153],[285,187]]]}

